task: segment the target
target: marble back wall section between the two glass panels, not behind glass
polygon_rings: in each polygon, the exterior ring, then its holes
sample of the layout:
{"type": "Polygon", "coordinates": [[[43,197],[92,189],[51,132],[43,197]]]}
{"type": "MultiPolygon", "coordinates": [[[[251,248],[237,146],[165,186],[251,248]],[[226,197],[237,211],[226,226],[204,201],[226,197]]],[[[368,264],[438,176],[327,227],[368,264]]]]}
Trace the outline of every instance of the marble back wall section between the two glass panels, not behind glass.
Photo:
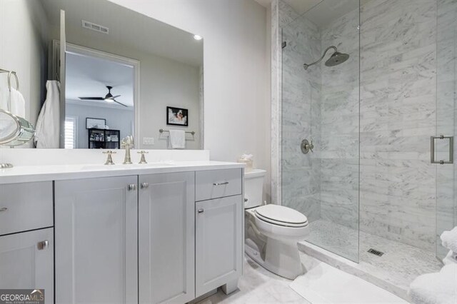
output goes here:
{"type": "Polygon", "coordinates": [[[434,250],[436,1],[361,7],[361,230],[434,250]]]}

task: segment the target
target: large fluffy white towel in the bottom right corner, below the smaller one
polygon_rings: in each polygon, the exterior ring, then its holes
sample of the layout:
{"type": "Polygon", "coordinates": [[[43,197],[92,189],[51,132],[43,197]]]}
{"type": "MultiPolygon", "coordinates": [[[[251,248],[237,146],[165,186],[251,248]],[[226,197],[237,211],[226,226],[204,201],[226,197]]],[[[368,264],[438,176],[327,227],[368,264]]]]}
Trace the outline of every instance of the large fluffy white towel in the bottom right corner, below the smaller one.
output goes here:
{"type": "Polygon", "coordinates": [[[457,264],[445,265],[439,273],[419,275],[409,286],[408,295],[415,304],[455,304],[457,264]]]}

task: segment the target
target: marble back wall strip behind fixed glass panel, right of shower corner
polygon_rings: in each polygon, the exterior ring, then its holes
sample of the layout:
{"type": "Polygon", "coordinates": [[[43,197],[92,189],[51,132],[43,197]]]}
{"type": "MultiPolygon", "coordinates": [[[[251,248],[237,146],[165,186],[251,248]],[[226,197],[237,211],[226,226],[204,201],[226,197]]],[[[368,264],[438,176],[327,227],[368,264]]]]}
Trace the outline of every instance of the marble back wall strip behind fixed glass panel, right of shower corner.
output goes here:
{"type": "Polygon", "coordinates": [[[321,218],[353,229],[358,229],[358,19],[358,10],[351,11],[321,29],[322,51],[336,46],[350,57],[338,66],[321,63],[321,133],[315,136],[321,140],[321,218]]]}

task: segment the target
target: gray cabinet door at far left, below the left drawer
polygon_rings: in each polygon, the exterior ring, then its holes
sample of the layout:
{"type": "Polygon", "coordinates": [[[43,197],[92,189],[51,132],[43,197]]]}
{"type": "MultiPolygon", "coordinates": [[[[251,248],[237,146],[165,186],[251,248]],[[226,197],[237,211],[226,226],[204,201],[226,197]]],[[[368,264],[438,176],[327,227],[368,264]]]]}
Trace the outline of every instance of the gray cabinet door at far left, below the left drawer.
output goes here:
{"type": "Polygon", "coordinates": [[[1,289],[44,289],[46,303],[54,303],[53,230],[0,236],[1,289]]]}

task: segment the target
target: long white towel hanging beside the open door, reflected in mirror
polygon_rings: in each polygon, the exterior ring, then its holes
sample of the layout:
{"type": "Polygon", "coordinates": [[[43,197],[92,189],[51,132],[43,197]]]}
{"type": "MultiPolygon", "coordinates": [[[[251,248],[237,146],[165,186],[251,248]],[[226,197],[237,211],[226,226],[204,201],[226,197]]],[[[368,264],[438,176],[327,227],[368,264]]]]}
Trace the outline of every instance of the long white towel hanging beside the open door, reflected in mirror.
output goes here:
{"type": "Polygon", "coordinates": [[[36,148],[59,148],[60,136],[60,83],[46,82],[46,101],[36,121],[36,148]]]}

